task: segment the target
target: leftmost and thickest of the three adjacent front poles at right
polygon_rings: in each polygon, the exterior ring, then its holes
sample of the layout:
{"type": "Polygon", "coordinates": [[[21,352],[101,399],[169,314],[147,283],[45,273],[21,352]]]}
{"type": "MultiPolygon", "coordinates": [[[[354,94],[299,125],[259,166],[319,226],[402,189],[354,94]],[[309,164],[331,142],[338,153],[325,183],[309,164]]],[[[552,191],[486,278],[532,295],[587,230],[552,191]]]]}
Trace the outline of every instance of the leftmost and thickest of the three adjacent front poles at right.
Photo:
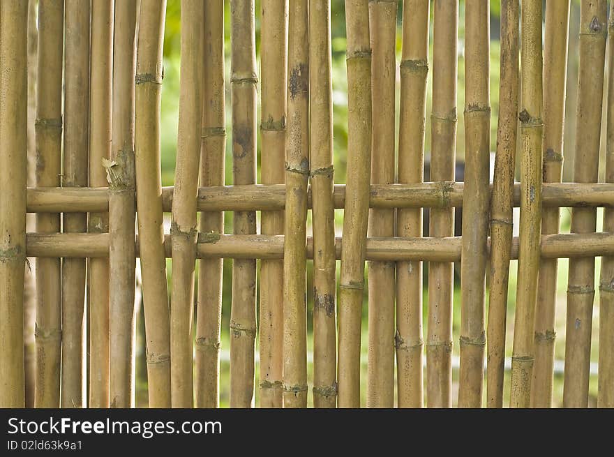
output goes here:
{"type": "Polygon", "coordinates": [[[461,260],[461,372],[458,406],[480,407],[484,380],[484,280],[491,151],[490,5],[465,5],[465,190],[461,260]]]}

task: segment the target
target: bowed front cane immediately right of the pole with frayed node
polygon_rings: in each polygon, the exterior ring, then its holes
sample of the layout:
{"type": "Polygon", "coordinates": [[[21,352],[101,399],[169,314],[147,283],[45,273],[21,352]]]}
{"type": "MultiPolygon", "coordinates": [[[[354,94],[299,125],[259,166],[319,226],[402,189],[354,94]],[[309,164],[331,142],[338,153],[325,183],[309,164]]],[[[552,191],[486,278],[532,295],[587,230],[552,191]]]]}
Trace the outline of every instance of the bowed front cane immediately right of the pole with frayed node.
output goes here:
{"type": "Polygon", "coordinates": [[[149,407],[170,407],[170,317],[160,176],[166,1],[141,0],[135,77],[135,172],[149,407]]]}

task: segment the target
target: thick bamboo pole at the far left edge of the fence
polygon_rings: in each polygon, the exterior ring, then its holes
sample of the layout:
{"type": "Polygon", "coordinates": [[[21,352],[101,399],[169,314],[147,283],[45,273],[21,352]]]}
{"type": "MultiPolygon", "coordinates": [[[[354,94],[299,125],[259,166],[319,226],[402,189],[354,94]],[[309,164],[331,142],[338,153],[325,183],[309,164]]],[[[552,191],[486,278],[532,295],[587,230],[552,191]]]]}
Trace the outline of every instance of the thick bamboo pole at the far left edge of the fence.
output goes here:
{"type": "Polygon", "coordinates": [[[0,3],[0,406],[24,407],[28,1],[0,3]]]}

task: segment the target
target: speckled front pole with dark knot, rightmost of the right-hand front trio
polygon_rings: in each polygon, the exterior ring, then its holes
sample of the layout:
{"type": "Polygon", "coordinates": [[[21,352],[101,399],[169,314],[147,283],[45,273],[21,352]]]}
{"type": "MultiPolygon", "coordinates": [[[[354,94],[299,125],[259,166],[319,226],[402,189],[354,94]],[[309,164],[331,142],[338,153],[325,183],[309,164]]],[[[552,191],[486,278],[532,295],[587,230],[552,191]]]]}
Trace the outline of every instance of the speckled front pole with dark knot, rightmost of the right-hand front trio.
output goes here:
{"type": "Polygon", "coordinates": [[[525,0],[522,11],[521,220],[514,348],[511,358],[511,407],[529,407],[533,376],[535,301],[541,233],[541,121],[543,103],[541,0],[525,0]]]}

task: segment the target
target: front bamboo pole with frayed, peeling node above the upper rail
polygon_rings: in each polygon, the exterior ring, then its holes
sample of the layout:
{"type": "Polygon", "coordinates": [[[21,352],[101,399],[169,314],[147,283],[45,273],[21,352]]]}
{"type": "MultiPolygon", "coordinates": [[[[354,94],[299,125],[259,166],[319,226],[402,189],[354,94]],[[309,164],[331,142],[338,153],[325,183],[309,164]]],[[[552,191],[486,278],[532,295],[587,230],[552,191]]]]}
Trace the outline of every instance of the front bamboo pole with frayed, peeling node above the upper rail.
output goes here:
{"type": "Polygon", "coordinates": [[[111,407],[134,405],[136,3],[136,0],[118,1],[113,26],[113,158],[105,163],[110,187],[111,407]]]}

